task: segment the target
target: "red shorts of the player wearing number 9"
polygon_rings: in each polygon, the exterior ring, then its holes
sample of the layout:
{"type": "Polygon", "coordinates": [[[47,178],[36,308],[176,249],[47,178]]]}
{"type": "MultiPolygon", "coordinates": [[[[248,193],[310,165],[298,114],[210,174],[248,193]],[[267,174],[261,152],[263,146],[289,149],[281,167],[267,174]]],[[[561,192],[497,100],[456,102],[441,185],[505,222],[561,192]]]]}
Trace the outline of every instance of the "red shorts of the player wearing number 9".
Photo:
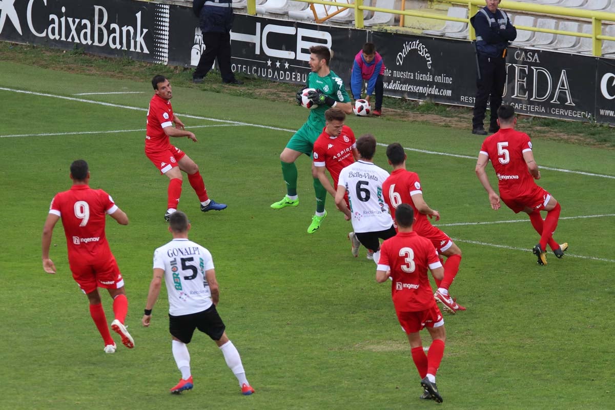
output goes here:
{"type": "Polygon", "coordinates": [[[84,293],[92,293],[97,288],[119,289],[124,286],[124,279],[113,256],[95,264],[71,263],[70,267],[73,279],[84,293]]]}

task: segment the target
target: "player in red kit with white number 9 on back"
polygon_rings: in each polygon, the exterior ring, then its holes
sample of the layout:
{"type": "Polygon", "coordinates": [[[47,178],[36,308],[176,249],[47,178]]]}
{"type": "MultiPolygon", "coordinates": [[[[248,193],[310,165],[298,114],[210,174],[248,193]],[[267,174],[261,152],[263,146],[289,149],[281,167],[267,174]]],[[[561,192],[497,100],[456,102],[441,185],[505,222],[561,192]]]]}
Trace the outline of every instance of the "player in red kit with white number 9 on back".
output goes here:
{"type": "Polygon", "coordinates": [[[135,342],[124,326],[128,312],[124,279],[105,236],[107,214],[122,225],[128,224],[128,217],[109,194],[88,186],[90,171],[87,162],[82,159],[74,161],[70,176],[73,179],[71,189],[55,195],[49,207],[42,231],[42,267],[48,274],[55,274],[54,262],[49,259],[49,246],[54,226],[62,218],[68,264],[74,280],[90,301],[90,315],[105,341],[105,353],[114,353],[116,345],[109,333],[99,287],[106,288],[113,298],[115,320],[111,322],[111,329],[122,337],[126,347],[132,349],[135,342]]]}

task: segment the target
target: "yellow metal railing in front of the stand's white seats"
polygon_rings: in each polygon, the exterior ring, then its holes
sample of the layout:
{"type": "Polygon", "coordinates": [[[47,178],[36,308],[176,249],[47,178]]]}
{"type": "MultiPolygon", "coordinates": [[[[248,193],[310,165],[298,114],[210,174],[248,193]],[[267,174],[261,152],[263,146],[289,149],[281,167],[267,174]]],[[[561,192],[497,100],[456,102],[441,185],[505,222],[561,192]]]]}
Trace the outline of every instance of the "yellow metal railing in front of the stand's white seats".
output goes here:
{"type": "MultiPolygon", "coordinates": [[[[335,1],[325,1],[325,0],[295,0],[302,1],[306,3],[312,4],[323,4],[324,6],[335,6],[335,7],[344,7],[341,6],[339,2],[335,1]]],[[[402,0],[403,1],[403,0],[402,0]]],[[[485,6],[485,0],[438,0],[440,2],[447,2],[451,4],[463,4],[468,7],[468,15],[473,16],[478,12],[478,9],[481,9],[485,6]]],[[[527,30],[527,31],[538,31],[540,33],[551,33],[551,34],[562,34],[565,36],[575,36],[575,37],[585,37],[592,39],[592,52],[593,55],[600,57],[602,55],[602,41],[615,41],[615,37],[604,36],[602,34],[602,23],[603,22],[613,22],[615,23],[615,13],[601,12],[601,11],[590,11],[590,10],[582,10],[582,9],[573,9],[569,7],[558,7],[558,6],[544,6],[542,4],[531,4],[526,2],[517,2],[517,1],[503,1],[499,7],[504,10],[518,10],[523,12],[534,12],[539,14],[548,14],[555,15],[560,17],[575,17],[575,18],[586,18],[592,22],[592,33],[577,33],[576,31],[561,31],[561,30],[550,30],[547,28],[538,28],[538,27],[526,27],[526,26],[515,26],[518,30],[527,30]]],[[[446,20],[449,22],[462,22],[468,23],[469,29],[469,37],[470,40],[476,39],[476,35],[474,33],[474,28],[470,25],[469,18],[457,18],[457,17],[449,17],[448,15],[435,14],[431,12],[423,12],[418,10],[392,10],[392,9],[382,9],[380,7],[371,7],[371,6],[363,6],[363,0],[355,0],[354,3],[348,4],[347,7],[349,9],[354,9],[354,24],[356,28],[363,28],[363,10],[369,10],[374,12],[384,12],[390,14],[398,14],[400,15],[400,23],[403,24],[403,16],[410,17],[423,17],[423,18],[432,18],[434,20],[446,20]]],[[[339,12],[339,10],[338,10],[339,12]]],[[[338,12],[335,12],[337,14],[338,12]]],[[[248,0],[248,14],[256,15],[256,0],[248,0]]],[[[317,22],[323,22],[330,17],[333,17],[334,14],[329,14],[323,18],[317,18],[317,22]]]]}

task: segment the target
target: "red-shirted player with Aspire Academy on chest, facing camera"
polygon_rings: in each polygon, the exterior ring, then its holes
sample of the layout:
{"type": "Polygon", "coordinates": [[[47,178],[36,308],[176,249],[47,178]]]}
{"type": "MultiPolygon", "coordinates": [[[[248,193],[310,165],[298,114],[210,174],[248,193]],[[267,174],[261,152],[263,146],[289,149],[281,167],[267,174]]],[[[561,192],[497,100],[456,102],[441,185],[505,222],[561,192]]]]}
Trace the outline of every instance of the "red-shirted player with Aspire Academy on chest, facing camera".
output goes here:
{"type": "MultiPolygon", "coordinates": [[[[327,192],[335,198],[339,173],[359,158],[354,132],[344,125],[346,113],[339,108],[325,111],[325,128],[314,142],[312,174],[318,178],[327,192]],[[333,178],[333,185],[325,174],[325,168],[333,178]]],[[[348,205],[346,197],[346,206],[348,205]]],[[[343,211],[343,210],[342,210],[343,211]]]]}

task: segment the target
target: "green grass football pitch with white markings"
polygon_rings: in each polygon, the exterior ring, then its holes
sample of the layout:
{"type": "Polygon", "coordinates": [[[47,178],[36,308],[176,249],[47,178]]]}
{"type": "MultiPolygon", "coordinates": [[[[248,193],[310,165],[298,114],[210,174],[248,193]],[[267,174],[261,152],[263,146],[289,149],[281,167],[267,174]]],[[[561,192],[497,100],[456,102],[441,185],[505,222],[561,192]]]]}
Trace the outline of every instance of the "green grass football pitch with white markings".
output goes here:
{"type": "MultiPolygon", "coordinates": [[[[490,208],[474,173],[482,138],[448,127],[348,117],[360,136],[407,148],[436,223],[463,252],[451,294],[466,312],[445,315],[446,350],[437,374],[443,404],[420,401],[419,377],[375,264],[353,258],[349,222],[327,198],[314,234],[308,157],[297,161],[300,206],[272,210],[285,194],[279,154],[307,112],[287,103],[173,89],[173,109],[199,139],[173,140],[200,167],[208,194],[228,204],[201,213],[188,184],[180,209],[190,237],[213,255],[218,310],[255,395],[242,396],[221,352],[205,334],[189,344],[194,389],[170,395],[173,361],[165,292],[152,325],[140,324],[153,251],[170,240],[163,216],[167,178],[145,157],[153,95],[141,82],[0,62],[2,409],[612,409],[615,393],[615,159],[613,150],[533,138],[539,184],[561,203],[555,232],[563,259],[538,243],[525,214],[490,208]],[[125,278],[127,325],[135,349],[103,343],[87,298],[73,282],[62,227],[41,264],[49,202],[71,185],[68,167],[89,162],[90,186],[113,196],[128,226],[107,219],[125,278]]],[[[173,79],[170,79],[173,84],[173,79]]],[[[523,130],[521,128],[521,130],[523,130]]],[[[488,167],[492,184],[493,168],[488,167]]],[[[101,290],[112,320],[111,299],[101,290]]],[[[431,339],[425,333],[424,345],[431,339]]]]}

